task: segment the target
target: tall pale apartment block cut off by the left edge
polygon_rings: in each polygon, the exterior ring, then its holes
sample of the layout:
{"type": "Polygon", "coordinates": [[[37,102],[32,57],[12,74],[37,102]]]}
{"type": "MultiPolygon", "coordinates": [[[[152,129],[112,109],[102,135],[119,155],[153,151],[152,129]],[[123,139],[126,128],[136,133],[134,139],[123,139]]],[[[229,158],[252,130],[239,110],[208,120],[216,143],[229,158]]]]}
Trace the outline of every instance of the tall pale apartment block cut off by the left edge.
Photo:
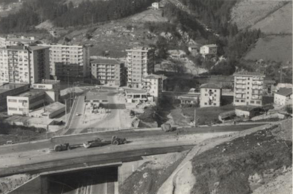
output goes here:
{"type": "Polygon", "coordinates": [[[49,79],[49,48],[6,46],[0,48],[0,82],[33,84],[49,79]]]}

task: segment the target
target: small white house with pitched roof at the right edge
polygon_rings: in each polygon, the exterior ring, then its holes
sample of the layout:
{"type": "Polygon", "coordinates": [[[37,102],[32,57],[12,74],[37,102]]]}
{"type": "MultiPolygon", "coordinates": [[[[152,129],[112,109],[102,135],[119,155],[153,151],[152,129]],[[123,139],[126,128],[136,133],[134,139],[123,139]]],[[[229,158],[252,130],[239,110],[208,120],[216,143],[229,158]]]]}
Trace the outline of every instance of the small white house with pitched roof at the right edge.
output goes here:
{"type": "Polygon", "coordinates": [[[274,94],[274,103],[281,106],[292,104],[292,88],[280,88],[274,94]]]}

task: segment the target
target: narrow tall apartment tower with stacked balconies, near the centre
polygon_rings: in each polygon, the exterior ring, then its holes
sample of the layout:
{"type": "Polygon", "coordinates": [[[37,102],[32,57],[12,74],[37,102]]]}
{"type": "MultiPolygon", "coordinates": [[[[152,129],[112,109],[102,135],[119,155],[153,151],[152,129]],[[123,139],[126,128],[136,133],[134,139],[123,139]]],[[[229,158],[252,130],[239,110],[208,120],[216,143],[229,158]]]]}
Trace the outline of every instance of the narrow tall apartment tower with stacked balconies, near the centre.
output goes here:
{"type": "Polygon", "coordinates": [[[127,86],[141,88],[143,79],[154,72],[154,49],[134,47],[127,49],[127,86]]]}

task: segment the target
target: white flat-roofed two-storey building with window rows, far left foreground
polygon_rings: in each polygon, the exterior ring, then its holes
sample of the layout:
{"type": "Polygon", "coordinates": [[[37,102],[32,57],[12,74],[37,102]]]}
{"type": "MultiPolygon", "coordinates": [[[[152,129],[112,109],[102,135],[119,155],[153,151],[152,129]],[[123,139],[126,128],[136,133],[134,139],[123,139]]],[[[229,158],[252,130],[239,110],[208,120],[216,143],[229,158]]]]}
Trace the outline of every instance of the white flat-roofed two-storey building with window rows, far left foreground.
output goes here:
{"type": "Polygon", "coordinates": [[[28,91],[18,96],[7,96],[8,115],[29,115],[30,110],[45,103],[44,91],[28,91]]]}

